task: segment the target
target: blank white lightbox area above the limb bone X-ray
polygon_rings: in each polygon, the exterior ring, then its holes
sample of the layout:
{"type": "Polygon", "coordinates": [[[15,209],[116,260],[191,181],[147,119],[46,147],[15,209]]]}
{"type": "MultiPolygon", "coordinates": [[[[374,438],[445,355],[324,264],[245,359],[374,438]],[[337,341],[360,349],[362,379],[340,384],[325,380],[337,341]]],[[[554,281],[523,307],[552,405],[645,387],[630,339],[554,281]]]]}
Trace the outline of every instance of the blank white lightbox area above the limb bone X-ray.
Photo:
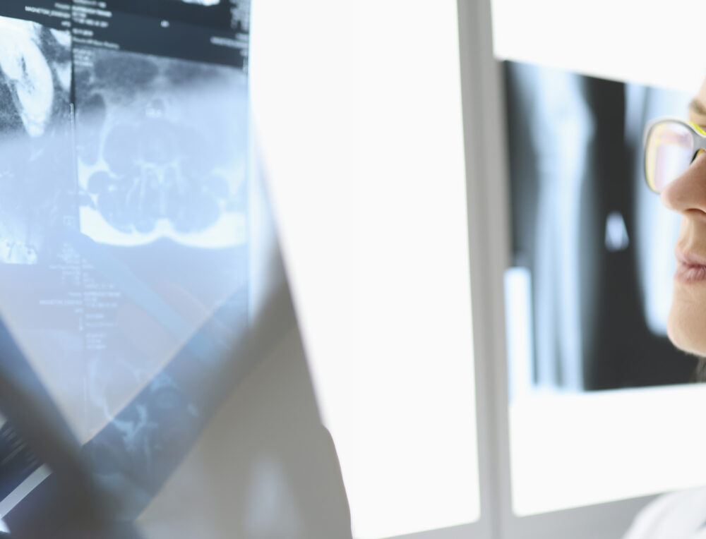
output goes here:
{"type": "Polygon", "coordinates": [[[706,74],[700,0],[492,0],[496,56],[687,92],[706,74]]]}

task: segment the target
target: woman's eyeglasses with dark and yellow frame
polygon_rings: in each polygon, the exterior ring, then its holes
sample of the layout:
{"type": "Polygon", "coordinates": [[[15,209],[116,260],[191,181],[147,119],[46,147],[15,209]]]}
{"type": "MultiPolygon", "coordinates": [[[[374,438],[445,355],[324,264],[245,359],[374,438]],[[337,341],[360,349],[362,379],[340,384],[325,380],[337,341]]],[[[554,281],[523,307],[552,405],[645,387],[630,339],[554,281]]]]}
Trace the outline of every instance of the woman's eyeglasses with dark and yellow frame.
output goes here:
{"type": "Polygon", "coordinates": [[[706,150],[706,131],[690,121],[660,118],[645,127],[645,179],[655,193],[681,176],[706,150]]]}

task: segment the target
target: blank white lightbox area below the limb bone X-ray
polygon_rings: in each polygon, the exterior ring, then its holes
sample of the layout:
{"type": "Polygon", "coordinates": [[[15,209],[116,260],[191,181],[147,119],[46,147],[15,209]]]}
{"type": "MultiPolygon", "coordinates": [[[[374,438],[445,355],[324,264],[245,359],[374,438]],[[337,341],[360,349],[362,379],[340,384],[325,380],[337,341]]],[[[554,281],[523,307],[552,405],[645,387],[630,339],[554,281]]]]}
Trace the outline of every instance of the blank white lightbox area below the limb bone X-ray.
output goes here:
{"type": "Polygon", "coordinates": [[[527,396],[510,404],[520,516],[706,484],[706,387],[527,396]]]}

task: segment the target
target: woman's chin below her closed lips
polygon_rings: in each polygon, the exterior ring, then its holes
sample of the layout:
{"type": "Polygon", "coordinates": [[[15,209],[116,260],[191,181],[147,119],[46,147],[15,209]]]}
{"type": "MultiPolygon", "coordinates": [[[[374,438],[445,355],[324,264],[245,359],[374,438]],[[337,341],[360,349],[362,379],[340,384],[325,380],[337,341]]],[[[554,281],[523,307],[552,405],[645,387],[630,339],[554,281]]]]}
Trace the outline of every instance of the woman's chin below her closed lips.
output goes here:
{"type": "Polygon", "coordinates": [[[678,349],[706,356],[706,283],[674,284],[667,334],[678,349]]]}

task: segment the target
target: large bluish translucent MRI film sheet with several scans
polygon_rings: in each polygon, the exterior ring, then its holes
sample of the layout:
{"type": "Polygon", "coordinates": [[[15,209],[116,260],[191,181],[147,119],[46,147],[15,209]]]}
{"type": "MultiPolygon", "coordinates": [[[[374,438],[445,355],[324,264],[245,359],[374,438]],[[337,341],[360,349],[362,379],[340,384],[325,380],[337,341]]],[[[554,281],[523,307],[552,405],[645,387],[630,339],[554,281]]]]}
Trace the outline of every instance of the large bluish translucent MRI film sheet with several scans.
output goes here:
{"type": "Polygon", "coordinates": [[[246,370],[248,49],[249,1],[0,6],[13,538],[140,536],[246,370]]]}

